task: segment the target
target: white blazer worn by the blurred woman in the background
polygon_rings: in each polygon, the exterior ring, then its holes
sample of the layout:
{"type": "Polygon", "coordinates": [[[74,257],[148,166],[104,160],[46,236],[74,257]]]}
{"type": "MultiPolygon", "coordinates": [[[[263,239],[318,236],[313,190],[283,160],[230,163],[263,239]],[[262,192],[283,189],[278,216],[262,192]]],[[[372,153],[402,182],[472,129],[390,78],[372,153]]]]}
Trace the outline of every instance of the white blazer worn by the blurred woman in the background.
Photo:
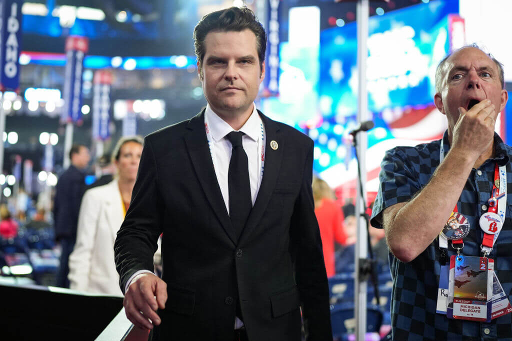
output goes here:
{"type": "Polygon", "coordinates": [[[75,248],[69,257],[71,289],[122,296],[114,242],[123,220],[117,180],[86,191],[78,215],[75,248]]]}

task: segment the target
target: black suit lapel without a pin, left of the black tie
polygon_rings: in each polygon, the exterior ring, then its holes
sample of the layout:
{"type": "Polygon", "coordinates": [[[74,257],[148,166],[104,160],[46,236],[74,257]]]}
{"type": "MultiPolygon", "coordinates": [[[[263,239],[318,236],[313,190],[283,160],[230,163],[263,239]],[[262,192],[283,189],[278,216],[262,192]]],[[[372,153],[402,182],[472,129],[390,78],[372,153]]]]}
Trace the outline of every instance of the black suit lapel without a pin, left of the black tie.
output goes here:
{"type": "Polygon", "coordinates": [[[190,119],[187,129],[189,133],[185,135],[185,143],[199,183],[229,239],[236,245],[236,233],[227,214],[226,204],[222,198],[221,189],[215,174],[214,163],[211,161],[208,140],[206,139],[204,129],[204,110],[190,119]]]}

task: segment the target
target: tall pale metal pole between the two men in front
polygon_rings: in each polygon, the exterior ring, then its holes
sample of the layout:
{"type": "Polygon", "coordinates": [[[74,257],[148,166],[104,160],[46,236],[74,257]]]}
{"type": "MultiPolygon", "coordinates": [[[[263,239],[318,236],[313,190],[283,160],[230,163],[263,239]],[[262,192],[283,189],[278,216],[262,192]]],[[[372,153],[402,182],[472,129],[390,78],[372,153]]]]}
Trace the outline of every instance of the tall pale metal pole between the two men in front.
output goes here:
{"type": "MultiPolygon", "coordinates": [[[[366,90],[366,61],[368,58],[368,0],[358,0],[356,7],[357,22],[357,71],[358,71],[358,92],[357,92],[357,121],[364,122],[368,117],[368,93],[366,90]]],[[[366,148],[368,145],[366,132],[359,133],[357,154],[359,156],[359,167],[362,177],[362,193],[357,188],[355,212],[357,217],[357,239],[355,246],[355,299],[354,316],[356,318],[355,337],[357,341],[364,341],[366,336],[366,307],[367,307],[367,282],[361,280],[359,259],[368,257],[366,216],[365,216],[365,194],[366,194],[366,148]]]]}

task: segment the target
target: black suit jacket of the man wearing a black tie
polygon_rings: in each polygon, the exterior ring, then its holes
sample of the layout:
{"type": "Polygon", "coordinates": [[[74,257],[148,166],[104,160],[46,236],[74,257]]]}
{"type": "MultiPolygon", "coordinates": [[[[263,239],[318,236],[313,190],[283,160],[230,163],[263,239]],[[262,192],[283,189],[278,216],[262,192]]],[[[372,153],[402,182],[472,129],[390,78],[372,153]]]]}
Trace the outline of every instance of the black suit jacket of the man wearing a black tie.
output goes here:
{"type": "Polygon", "coordinates": [[[239,239],[212,164],[204,111],[145,138],[115,242],[121,290],[153,270],[161,232],[168,299],[153,339],[231,340],[237,301],[250,340],[332,341],[322,242],[311,191],[313,142],[261,114],[262,184],[239,239]],[[270,141],[278,142],[273,150],[270,141]]]}

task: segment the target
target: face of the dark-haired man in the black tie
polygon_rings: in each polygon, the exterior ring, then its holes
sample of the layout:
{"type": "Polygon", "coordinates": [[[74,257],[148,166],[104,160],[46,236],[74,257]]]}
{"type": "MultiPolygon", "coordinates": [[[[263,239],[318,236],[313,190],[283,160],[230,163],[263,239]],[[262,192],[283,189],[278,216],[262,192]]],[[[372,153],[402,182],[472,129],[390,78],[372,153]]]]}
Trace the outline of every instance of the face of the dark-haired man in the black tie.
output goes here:
{"type": "Polygon", "coordinates": [[[256,46],[256,36],[249,29],[206,35],[199,78],[206,100],[221,117],[252,112],[252,103],[265,77],[265,63],[262,72],[256,46]]]}

